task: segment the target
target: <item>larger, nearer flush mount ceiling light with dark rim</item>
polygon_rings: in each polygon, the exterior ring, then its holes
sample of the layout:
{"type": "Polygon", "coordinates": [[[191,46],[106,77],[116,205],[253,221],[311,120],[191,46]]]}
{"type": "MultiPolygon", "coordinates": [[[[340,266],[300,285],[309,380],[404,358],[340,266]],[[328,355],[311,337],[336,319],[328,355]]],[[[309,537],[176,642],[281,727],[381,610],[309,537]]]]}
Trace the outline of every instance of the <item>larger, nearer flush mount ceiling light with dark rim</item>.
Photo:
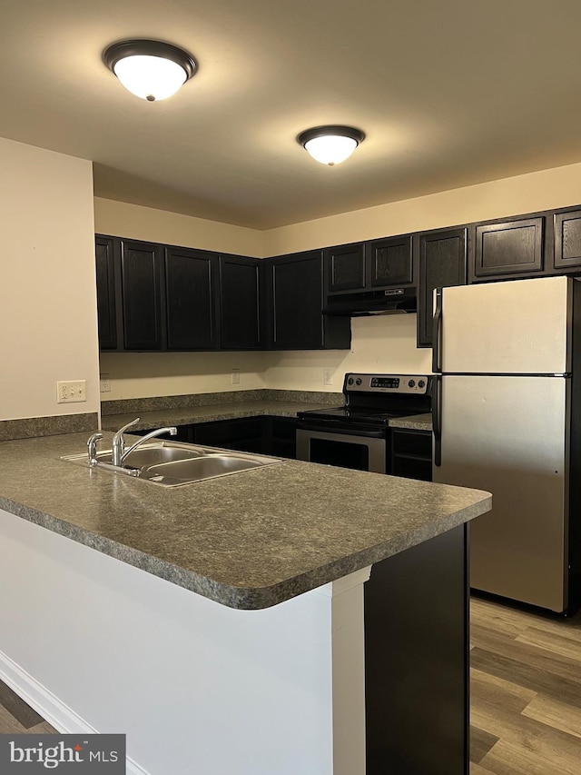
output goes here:
{"type": "Polygon", "coordinates": [[[103,51],[103,62],[123,86],[143,100],[171,97],[196,72],[192,55],[159,40],[123,40],[103,51]]]}

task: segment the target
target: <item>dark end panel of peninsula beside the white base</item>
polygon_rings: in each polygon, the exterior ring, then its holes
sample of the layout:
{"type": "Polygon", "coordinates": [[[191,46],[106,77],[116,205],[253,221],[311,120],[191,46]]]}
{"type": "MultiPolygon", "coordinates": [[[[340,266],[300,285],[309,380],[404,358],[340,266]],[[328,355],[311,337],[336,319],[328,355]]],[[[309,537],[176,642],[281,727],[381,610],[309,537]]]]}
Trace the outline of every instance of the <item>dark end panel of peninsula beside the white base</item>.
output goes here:
{"type": "Polygon", "coordinates": [[[468,775],[467,552],[461,525],[371,569],[367,775],[468,775]]]}

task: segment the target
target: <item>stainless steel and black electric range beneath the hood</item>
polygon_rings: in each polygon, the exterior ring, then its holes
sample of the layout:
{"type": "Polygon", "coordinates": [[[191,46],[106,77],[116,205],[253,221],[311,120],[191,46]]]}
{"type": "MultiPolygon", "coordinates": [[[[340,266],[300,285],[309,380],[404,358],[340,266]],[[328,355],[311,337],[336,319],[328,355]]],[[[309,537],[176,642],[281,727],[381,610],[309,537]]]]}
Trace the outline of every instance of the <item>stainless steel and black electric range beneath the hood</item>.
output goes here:
{"type": "Polygon", "coordinates": [[[389,420],[430,412],[431,392],[427,374],[347,373],[342,406],[299,412],[297,458],[389,473],[389,420]]]}

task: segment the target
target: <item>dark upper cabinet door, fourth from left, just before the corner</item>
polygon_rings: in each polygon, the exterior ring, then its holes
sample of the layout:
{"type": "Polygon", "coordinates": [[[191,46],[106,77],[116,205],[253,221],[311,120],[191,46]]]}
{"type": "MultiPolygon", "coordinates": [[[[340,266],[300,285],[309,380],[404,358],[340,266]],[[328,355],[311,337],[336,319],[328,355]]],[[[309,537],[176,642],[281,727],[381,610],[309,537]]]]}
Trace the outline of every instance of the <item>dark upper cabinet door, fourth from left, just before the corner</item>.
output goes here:
{"type": "Polygon", "coordinates": [[[260,259],[220,257],[223,350],[261,348],[260,259]]]}

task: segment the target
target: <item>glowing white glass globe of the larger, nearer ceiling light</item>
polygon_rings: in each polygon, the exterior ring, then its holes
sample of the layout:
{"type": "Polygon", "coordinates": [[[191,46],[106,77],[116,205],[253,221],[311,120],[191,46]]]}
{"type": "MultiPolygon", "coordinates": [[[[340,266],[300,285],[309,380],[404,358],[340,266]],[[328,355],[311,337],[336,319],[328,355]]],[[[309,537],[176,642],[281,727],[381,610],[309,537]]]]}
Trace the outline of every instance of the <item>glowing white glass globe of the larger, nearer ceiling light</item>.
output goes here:
{"type": "Polygon", "coordinates": [[[150,102],[178,92],[187,74],[181,65],[161,56],[127,56],[113,66],[114,74],[132,94],[150,102]]]}

